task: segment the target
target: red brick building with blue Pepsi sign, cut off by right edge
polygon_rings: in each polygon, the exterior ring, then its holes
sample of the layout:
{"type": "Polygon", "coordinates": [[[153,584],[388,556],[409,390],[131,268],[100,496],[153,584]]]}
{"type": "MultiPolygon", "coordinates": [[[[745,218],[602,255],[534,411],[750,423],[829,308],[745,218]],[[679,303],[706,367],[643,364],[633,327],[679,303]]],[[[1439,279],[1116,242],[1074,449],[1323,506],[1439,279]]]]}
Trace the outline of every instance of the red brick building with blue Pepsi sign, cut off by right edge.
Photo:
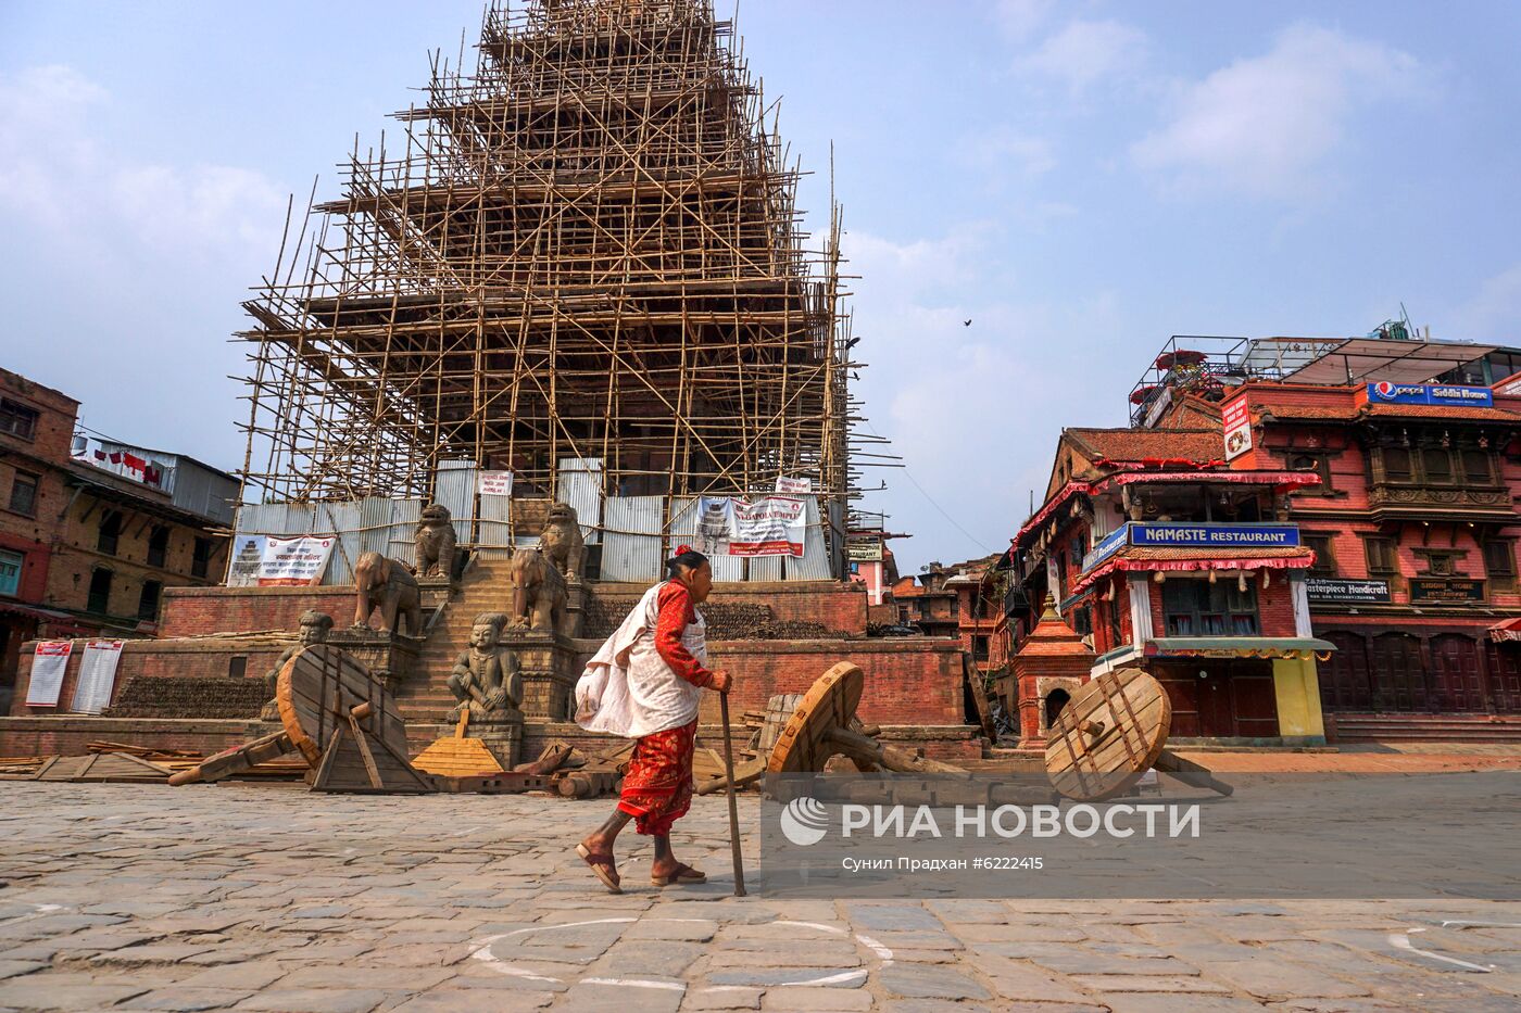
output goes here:
{"type": "Polygon", "coordinates": [[[1220,405],[1250,426],[1232,467],[1317,479],[1291,503],[1343,735],[1389,732],[1389,715],[1521,713],[1521,397],[1451,386],[1478,403],[1415,405],[1430,385],[1402,386],[1249,382],[1220,405]]]}

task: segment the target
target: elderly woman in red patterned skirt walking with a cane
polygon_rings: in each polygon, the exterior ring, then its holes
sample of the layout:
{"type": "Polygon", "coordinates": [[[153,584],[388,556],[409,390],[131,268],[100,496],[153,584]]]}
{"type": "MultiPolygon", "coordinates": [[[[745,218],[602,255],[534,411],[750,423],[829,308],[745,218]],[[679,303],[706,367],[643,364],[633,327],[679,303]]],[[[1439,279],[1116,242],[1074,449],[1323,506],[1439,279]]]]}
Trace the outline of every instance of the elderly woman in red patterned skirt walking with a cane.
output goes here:
{"type": "Polygon", "coordinates": [[[613,841],[630,820],[654,838],[654,885],[707,879],[671,853],[671,824],[692,803],[698,698],[704,689],[729,692],[733,680],[707,669],[707,627],[697,613],[713,590],[707,557],[683,545],[666,572],[587,663],[575,691],[576,724],[637,739],[618,809],[575,849],[610,893],[622,893],[613,841]]]}

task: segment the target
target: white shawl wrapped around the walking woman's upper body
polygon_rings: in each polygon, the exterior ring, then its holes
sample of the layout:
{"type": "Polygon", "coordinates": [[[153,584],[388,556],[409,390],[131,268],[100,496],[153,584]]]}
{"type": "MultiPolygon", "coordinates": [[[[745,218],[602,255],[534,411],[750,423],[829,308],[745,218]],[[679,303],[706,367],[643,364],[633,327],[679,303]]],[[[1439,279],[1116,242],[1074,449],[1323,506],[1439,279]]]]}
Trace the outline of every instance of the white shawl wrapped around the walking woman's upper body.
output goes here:
{"type": "MultiPolygon", "coordinates": [[[[701,686],[686,681],[656,651],[660,589],[656,584],[586,665],[575,686],[575,721],[587,732],[637,739],[680,729],[697,718],[701,686]]],[[[701,613],[681,643],[707,666],[707,624],[701,613]]]]}

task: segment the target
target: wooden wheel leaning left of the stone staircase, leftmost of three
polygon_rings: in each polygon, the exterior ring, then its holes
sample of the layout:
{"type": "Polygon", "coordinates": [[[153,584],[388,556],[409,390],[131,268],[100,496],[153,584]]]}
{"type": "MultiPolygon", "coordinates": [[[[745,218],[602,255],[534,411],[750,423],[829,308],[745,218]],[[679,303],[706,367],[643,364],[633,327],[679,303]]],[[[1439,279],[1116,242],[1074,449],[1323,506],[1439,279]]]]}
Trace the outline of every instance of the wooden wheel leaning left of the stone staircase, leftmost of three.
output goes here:
{"type": "Polygon", "coordinates": [[[359,726],[391,751],[406,756],[406,724],[395,701],[380,680],[353,656],[327,643],[313,643],[280,669],[275,683],[280,721],[292,745],[316,767],[339,727],[348,730],[347,716],[354,707],[370,704],[359,726]]]}

